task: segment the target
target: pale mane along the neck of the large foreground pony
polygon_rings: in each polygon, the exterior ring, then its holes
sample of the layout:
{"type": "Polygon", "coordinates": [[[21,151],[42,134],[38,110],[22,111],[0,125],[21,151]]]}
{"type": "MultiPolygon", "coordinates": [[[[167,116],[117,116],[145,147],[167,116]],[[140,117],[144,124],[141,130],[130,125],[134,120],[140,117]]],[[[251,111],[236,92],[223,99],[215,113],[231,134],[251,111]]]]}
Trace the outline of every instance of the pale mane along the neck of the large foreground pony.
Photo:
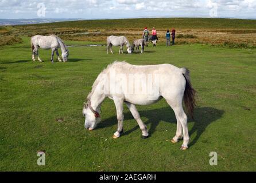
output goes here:
{"type": "Polygon", "coordinates": [[[102,81],[102,77],[103,77],[103,74],[107,74],[109,72],[109,70],[113,67],[113,66],[121,66],[121,65],[125,65],[125,64],[129,64],[127,63],[126,61],[122,61],[122,62],[119,62],[119,61],[114,61],[113,63],[110,63],[106,69],[104,68],[101,73],[98,75],[98,77],[96,78],[96,80],[94,81],[94,84],[92,85],[92,90],[91,92],[88,94],[87,96],[87,101],[89,101],[91,99],[91,96],[92,94],[94,93],[95,89],[96,89],[96,86],[98,86],[99,82],[102,81]]]}

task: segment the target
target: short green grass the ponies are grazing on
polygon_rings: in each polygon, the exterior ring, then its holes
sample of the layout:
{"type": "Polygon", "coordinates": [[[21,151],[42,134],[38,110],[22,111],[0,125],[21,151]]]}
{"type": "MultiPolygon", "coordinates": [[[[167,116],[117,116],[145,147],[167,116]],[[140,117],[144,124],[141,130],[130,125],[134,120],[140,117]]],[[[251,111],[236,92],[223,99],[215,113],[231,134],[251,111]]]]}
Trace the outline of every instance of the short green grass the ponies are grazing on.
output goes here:
{"type": "Polygon", "coordinates": [[[113,55],[105,47],[69,51],[69,62],[51,64],[49,50],[40,50],[44,63],[31,61],[29,38],[1,47],[0,170],[256,170],[255,49],[150,45],[142,55],[119,55],[118,47],[113,55]],[[117,119],[108,99],[102,105],[102,123],[92,132],[84,129],[83,102],[100,71],[115,60],[171,63],[191,70],[198,107],[195,120],[188,121],[187,151],[179,150],[182,142],[166,141],[176,132],[176,119],[164,100],[138,106],[151,134],[146,140],[127,108],[125,134],[111,138],[117,119]],[[38,150],[45,150],[46,166],[37,166],[38,150]],[[210,152],[218,153],[218,166],[209,165],[210,152]]]}

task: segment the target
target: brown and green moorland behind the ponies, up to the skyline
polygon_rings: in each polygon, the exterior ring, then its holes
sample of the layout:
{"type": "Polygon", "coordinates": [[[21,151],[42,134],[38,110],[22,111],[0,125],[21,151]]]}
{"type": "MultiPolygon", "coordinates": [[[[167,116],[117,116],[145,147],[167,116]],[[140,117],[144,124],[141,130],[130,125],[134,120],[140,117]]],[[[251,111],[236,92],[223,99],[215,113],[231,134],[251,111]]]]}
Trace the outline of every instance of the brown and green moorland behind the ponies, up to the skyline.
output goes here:
{"type": "Polygon", "coordinates": [[[203,43],[232,48],[256,48],[256,20],[226,18],[107,19],[6,26],[0,27],[0,46],[20,42],[16,37],[36,34],[56,34],[71,41],[105,42],[108,35],[126,35],[134,40],[141,38],[143,27],[149,30],[156,27],[160,41],[165,41],[166,29],[174,27],[178,45],[203,43]]]}

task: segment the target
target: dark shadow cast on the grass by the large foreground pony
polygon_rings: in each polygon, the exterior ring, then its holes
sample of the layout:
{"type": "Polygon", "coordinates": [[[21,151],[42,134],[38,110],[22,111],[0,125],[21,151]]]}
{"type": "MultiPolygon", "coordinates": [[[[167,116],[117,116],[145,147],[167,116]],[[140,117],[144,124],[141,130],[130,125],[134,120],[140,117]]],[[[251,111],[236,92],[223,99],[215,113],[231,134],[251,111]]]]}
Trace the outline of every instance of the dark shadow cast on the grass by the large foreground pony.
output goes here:
{"type": "MultiPolygon", "coordinates": [[[[156,131],[157,125],[160,123],[160,121],[166,121],[176,124],[176,117],[174,115],[173,110],[170,107],[153,110],[142,110],[139,111],[139,114],[141,115],[141,117],[148,118],[148,121],[143,122],[145,122],[146,125],[150,124],[149,134],[153,134],[156,131]]],[[[188,118],[188,122],[194,122],[192,129],[189,131],[189,136],[191,136],[193,133],[196,133],[196,137],[192,139],[189,145],[194,145],[197,142],[197,140],[199,140],[201,134],[203,134],[207,126],[221,118],[223,114],[224,110],[219,110],[210,107],[197,107],[194,112],[195,120],[191,120],[190,118],[188,118]]],[[[133,119],[133,116],[130,114],[130,112],[125,113],[124,115],[125,120],[133,119]]],[[[98,128],[105,128],[107,126],[113,125],[117,125],[117,118],[115,116],[101,122],[98,128]]],[[[137,129],[139,129],[139,126],[136,126],[133,129],[125,131],[123,135],[127,135],[137,129]]],[[[173,134],[173,136],[174,135],[175,134],[173,134]]]]}

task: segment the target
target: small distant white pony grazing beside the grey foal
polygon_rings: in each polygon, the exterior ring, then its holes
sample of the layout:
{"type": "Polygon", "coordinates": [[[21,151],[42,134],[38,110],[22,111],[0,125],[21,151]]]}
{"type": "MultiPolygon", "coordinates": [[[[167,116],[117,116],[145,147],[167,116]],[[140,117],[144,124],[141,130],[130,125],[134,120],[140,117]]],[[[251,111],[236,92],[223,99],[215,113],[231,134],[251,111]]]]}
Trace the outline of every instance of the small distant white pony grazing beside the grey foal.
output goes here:
{"type": "Polygon", "coordinates": [[[120,46],[119,54],[123,53],[123,45],[126,45],[128,53],[131,54],[130,43],[126,37],[110,35],[109,37],[107,37],[107,54],[109,49],[113,54],[112,46],[120,46]]]}

